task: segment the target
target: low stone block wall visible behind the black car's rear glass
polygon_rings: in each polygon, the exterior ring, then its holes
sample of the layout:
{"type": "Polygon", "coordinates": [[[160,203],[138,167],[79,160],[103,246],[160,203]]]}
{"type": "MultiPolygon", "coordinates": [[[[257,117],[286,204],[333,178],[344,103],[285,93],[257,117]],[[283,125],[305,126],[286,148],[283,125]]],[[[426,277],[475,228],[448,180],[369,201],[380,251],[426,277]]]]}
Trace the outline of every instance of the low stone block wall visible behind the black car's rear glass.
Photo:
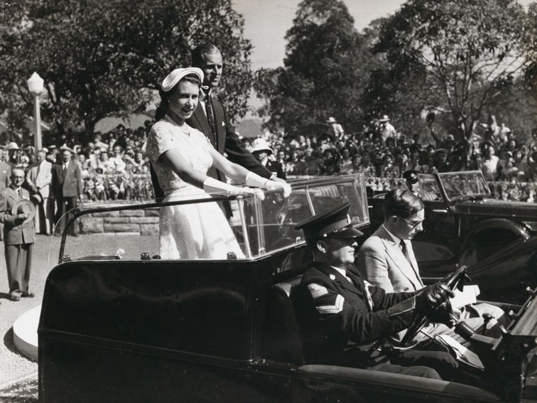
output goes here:
{"type": "Polygon", "coordinates": [[[144,236],[158,235],[158,209],[94,213],[84,215],[79,220],[81,234],[128,232],[144,236]]]}

